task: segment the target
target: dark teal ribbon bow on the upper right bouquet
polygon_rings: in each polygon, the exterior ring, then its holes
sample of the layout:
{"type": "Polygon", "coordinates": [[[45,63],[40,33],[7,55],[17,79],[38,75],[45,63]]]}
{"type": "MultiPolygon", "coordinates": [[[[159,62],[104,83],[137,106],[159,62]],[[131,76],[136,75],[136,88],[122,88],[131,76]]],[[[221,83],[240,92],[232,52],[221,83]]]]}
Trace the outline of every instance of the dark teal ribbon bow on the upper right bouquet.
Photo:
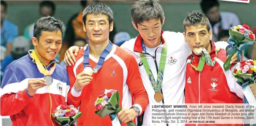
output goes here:
{"type": "Polygon", "coordinates": [[[233,39],[231,36],[230,38],[228,38],[227,43],[229,44],[226,47],[227,56],[230,55],[234,50],[237,50],[238,62],[240,62],[242,58],[243,50],[245,49],[247,44],[236,42],[236,40],[233,39]]]}

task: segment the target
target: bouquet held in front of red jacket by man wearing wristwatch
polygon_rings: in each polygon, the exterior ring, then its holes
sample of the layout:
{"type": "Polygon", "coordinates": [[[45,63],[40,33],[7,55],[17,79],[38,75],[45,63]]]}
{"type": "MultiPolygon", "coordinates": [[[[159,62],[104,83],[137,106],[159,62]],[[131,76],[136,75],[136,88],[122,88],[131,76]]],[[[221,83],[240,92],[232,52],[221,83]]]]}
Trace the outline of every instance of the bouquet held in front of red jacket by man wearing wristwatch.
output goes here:
{"type": "MultiPolygon", "coordinates": [[[[95,113],[99,117],[103,118],[109,115],[113,126],[121,125],[121,121],[116,116],[122,110],[119,107],[119,93],[117,90],[105,89],[100,92],[94,106],[96,107],[95,113]]],[[[127,125],[136,126],[132,121],[127,122],[127,125]]]]}

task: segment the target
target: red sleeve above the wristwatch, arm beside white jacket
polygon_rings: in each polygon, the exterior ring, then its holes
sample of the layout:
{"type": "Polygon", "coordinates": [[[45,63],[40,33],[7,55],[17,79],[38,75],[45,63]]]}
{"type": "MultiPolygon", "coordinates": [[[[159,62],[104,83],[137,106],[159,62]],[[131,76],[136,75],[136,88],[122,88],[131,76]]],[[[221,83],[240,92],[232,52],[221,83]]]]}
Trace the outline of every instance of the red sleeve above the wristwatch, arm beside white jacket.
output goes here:
{"type": "Polygon", "coordinates": [[[131,55],[127,60],[128,62],[125,63],[128,70],[127,85],[134,96],[134,104],[139,104],[143,112],[149,103],[149,96],[143,86],[136,59],[131,55]]]}

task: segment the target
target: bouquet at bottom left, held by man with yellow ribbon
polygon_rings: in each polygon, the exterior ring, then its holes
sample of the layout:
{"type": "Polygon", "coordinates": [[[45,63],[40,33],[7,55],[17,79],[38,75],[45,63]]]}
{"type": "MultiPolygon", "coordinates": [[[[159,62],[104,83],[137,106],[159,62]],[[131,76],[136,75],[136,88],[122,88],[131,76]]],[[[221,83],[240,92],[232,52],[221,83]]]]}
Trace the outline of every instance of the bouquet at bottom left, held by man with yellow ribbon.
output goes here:
{"type": "Polygon", "coordinates": [[[82,115],[73,105],[59,105],[51,114],[54,120],[61,126],[74,126],[74,123],[82,115]]]}

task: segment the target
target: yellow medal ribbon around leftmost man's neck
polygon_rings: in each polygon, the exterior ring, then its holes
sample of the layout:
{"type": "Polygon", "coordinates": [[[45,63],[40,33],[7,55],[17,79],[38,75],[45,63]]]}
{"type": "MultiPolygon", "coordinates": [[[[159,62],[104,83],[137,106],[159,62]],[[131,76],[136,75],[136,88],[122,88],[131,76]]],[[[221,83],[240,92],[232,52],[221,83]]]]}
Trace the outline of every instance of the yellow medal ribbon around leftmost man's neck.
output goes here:
{"type": "MultiPolygon", "coordinates": [[[[50,68],[50,70],[48,71],[47,68],[46,68],[46,69],[44,68],[44,64],[41,63],[40,60],[37,58],[36,53],[34,52],[34,50],[33,50],[33,51],[30,50],[29,52],[31,52],[31,53],[29,53],[29,56],[30,56],[32,59],[35,60],[36,66],[37,66],[38,70],[39,70],[42,74],[44,74],[44,76],[51,76],[51,74],[52,74],[52,73],[54,72],[54,70],[55,70],[56,64],[53,63],[52,66],[51,66],[51,68],[50,68]]],[[[50,64],[49,64],[49,65],[50,65],[50,64]]],[[[47,67],[48,67],[48,66],[47,66],[47,67]]]]}

